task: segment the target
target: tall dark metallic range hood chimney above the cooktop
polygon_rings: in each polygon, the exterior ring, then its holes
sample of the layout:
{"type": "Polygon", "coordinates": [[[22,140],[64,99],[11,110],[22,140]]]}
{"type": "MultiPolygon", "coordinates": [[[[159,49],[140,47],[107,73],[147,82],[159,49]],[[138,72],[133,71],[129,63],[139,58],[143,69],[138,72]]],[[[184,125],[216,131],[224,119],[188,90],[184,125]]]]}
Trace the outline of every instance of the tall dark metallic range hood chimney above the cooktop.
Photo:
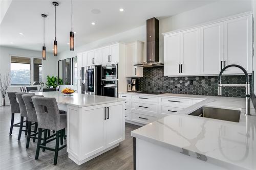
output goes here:
{"type": "Polygon", "coordinates": [[[146,62],[135,64],[135,66],[163,66],[163,63],[159,62],[159,20],[157,18],[146,20],[146,62]]]}

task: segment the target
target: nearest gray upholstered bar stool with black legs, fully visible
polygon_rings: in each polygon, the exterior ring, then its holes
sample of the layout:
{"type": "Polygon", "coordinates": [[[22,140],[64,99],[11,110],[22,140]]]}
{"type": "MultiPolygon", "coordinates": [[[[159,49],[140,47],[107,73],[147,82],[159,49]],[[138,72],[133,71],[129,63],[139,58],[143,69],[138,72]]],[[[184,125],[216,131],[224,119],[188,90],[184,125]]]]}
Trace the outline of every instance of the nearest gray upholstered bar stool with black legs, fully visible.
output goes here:
{"type": "Polygon", "coordinates": [[[36,110],[38,120],[38,140],[35,159],[39,157],[40,148],[54,151],[54,165],[57,164],[58,151],[65,148],[64,144],[59,148],[59,138],[62,136],[63,130],[67,127],[67,115],[59,114],[58,105],[55,98],[32,97],[32,101],[36,110]],[[42,129],[51,129],[56,131],[55,148],[46,147],[48,141],[41,143],[42,129]]]}

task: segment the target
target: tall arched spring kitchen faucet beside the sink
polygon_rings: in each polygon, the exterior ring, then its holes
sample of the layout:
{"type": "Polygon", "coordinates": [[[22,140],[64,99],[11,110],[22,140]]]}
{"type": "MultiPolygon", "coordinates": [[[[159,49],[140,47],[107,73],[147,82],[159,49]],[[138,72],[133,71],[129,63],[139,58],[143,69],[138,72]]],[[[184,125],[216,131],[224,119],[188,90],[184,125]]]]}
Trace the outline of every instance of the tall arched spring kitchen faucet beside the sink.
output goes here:
{"type": "Polygon", "coordinates": [[[249,76],[248,72],[244,69],[244,67],[237,65],[237,64],[231,64],[227,65],[224,68],[222,68],[220,75],[219,75],[219,87],[218,87],[218,94],[221,95],[221,90],[222,87],[245,87],[245,115],[250,115],[250,82],[249,82],[249,76]],[[244,74],[245,74],[245,84],[221,84],[221,76],[223,72],[228,68],[228,67],[238,67],[240,68],[244,74]]]}

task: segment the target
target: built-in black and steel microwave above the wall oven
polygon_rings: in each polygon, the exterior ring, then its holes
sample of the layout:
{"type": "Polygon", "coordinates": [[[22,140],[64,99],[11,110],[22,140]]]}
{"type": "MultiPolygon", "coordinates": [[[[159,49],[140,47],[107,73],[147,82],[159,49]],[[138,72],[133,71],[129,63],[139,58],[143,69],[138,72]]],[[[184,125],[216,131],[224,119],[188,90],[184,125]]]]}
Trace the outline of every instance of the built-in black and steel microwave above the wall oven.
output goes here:
{"type": "Polygon", "coordinates": [[[118,64],[102,65],[102,80],[118,79],[118,64]]]}

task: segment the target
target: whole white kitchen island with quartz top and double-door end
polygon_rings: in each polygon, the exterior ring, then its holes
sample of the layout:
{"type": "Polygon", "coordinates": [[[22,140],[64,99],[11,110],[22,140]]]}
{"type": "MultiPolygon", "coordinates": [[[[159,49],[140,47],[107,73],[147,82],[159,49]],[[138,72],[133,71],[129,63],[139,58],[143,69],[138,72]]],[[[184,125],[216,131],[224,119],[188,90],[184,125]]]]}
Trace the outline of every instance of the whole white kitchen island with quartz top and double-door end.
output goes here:
{"type": "Polygon", "coordinates": [[[55,98],[67,111],[67,152],[78,165],[109,151],[124,140],[124,100],[106,96],[37,92],[55,98]]]}

